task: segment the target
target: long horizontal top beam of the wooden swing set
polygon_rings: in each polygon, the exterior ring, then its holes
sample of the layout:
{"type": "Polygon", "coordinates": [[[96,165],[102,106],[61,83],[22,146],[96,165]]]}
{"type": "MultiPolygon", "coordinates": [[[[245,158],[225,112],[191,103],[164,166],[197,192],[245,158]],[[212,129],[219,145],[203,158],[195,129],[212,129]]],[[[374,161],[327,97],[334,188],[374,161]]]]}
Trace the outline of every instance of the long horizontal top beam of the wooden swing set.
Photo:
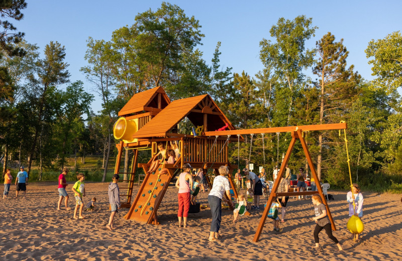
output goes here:
{"type": "Polygon", "coordinates": [[[333,123],[333,124],[317,124],[317,125],[301,125],[301,126],[288,126],[288,127],[272,127],[272,128],[249,128],[249,129],[234,129],[231,131],[220,132],[205,132],[205,136],[224,136],[224,135],[243,135],[243,134],[259,134],[259,133],[289,133],[296,132],[301,129],[303,132],[309,131],[324,131],[326,129],[346,129],[347,124],[333,123]]]}

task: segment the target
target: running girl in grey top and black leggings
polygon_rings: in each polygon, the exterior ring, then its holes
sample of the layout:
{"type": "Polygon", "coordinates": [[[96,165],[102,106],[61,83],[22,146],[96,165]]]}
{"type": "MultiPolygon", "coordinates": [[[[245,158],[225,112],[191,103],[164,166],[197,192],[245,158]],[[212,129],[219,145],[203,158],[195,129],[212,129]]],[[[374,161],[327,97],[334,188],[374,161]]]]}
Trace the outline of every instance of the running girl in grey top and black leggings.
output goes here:
{"type": "Polygon", "coordinates": [[[318,238],[318,234],[324,228],[328,237],[336,243],[339,250],[342,250],[342,246],[338,239],[332,235],[331,222],[327,216],[327,208],[323,204],[323,200],[321,199],[320,195],[313,195],[311,200],[313,201],[314,212],[316,214],[316,216],[313,217],[313,220],[317,223],[316,228],[314,229],[314,241],[316,242],[316,246],[313,247],[320,247],[320,239],[318,238]]]}

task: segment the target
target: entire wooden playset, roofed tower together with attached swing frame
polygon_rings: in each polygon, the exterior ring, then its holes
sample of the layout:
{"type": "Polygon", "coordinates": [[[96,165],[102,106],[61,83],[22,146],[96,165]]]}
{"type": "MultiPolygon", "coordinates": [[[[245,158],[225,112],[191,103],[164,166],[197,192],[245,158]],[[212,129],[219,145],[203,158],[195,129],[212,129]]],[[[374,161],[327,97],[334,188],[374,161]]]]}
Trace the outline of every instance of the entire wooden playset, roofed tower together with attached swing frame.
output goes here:
{"type": "MultiPolygon", "coordinates": [[[[116,145],[119,151],[115,168],[116,174],[121,174],[120,162],[123,148],[126,150],[134,150],[131,172],[128,173],[130,174],[130,179],[126,180],[129,181],[128,194],[122,195],[127,197],[127,202],[123,203],[122,207],[130,207],[129,212],[125,215],[126,219],[134,219],[148,224],[157,224],[156,212],[166,192],[167,186],[185,163],[189,163],[193,168],[202,168],[205,173],[208,173],[208,169],[213,169],[214,166],[216,168],[221,165],[228,166],[228,178],[235,197],[237,198],[232,173],[238,166],[231,165],[228,161],[228,143],[239,141],[240,135],[290,132],[292,139],[282,161],[282,165],[286,166],[295,142],[299,140],[312,171],[312,177],[316,180],[318,191],[277,193],[276,191],[284,172],[284,168],[280,168],[253,241],[257,242],[259,240],[270,205],[273,198],[276,196],[320,194],[323,203],[327,206],[327,214],[331,221],[332,229],[336,230],[303,133],[308,131],[346,129],[347,124],[345,122],[239,130],[235,129],[208,94],[170,102],[162,87],[156,87],[135,94],[119,112],[119,116],[122,118],[115,123],[114,135],[116,139],[123,139],[123,141],[116,145]],[[138,104],[143,105],[139,106],[138,104]],[[200,132],[200,136],[196,136],[195,129],[193,129],[194,135],[171,133],[171,130],[185,117],[187,117],[194,126],[199,126],[197,129],[203,128],[200,132]],[[222,126],[226,126],[228,130],[222,130],[224,129],[222,126]],[[219,131],[211,131],[212,129],[219,129],[219,131]],[[157,171],[146,174],[134,201],[131,202],[134,175],[137,166],[142,167],[144,172],[147,173],[151,164],[151,161],[148,163],[137,162],[138,150],[151,146],[153,156],[157,153],[156,143],[162,142],[169,147],[170,141],[178,142],[180,158],[174,164],[161,164],[157,171]]],[[[243,138],[241,140],[243,141],[243,138]]],[[[215,169],[215,171],[218,173],[217,169],[215,169]]],[[[211,186],[209,177],[210,176],[207,174],[207,181],[211,186]]],[[[230,206],[230,208],[232,209],[232,206],[230,206]]]]}

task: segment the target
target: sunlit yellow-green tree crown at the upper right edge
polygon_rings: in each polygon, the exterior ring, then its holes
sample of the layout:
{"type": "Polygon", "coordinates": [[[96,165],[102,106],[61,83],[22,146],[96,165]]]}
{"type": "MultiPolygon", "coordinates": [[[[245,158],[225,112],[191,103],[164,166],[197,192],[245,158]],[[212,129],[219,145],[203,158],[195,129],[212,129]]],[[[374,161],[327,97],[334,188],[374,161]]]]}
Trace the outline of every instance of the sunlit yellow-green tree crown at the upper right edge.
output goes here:
{"type": "Polygon", "coordinates": [[[386,90],[387,94],[402,87],[402,35],[393,32],[377,41],[371,40],[365,50],[366,57],[374,57],[371,75],[377,76],[373,86],[386,90]]]}

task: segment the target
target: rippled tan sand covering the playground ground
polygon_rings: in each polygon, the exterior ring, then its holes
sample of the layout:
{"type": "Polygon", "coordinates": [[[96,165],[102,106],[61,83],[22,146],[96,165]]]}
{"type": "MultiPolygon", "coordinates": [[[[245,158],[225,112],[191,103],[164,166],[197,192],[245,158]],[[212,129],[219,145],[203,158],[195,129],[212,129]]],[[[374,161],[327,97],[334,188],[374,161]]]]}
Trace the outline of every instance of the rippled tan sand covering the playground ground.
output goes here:
{"type": "MultiPolygon", "coordinates": [[[[74,206],[71,186],[69,206],[74,206]]],[[[87,196],[97,198],[97,210],[84,212],[84,220],[73,219],[73,209],[56,210],[56,182],[30,183],[27,199],[0,200],[0,260],[401,260],[402,204],[400,195],[364,193],[364,232],[354,242],[346,230],[348,205],[346,191],[330,191],[331,213],[337,231],[334,235],[344,247],[339,251],[324,231],[320,249],[313,249],[315,227],[311,200],[289,199],[283,231],[272,231],[266,223],[259,242],[252,241],[263,210],[240,217],[235,224],[230,210],[222,211],[218,242],[208,241],[211,212],[207,208],[189,214],[187,228],[177,227],[177,190],[169,187],[158,210],[160,225],[127,221],[128,209],[116,215],[114,231],[106,229],[110,211],[107,183],[85,183],[87,196]]],[[[137,190],[139,186],[135,187],[137,190]]],[[[135,192],[136,193],[136,192],[135,192]]],[[[208,193],[199,201],[208,204],[208,193]]],[[[262,204],[265,200],[262,200],[262,204]]]]}

